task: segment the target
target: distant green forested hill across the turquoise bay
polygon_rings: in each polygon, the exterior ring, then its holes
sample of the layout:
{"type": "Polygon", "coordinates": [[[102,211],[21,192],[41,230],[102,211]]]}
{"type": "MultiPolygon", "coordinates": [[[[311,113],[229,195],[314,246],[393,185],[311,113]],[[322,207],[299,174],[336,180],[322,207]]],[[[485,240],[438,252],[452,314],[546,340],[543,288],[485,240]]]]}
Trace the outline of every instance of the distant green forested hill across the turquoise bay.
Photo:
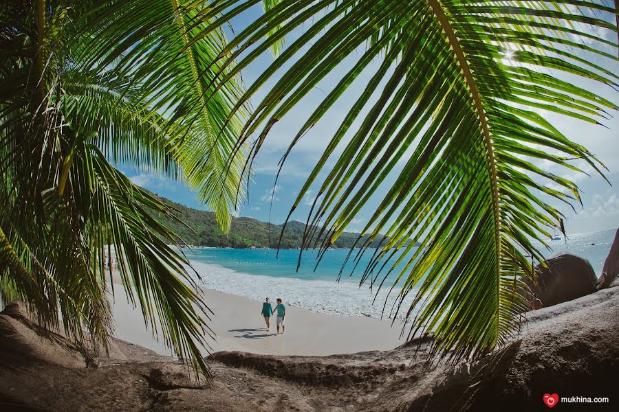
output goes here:
{"type": "MultiPolygon", "coordinates": [[[[185,222],[188,227],[157,214],[155,214],[155,218],[171,228],[187,244],[237,249],[278,247],[282,225],[269,225],[252,218],[232,218],[230,233],[226,236],[219,228],[213,212],[192,209],[166,198],[161,199],[178,210],[178,218],[185,222]]],[[[281,240],[281,249],[299,247],[302,243],[303,231],[305,231],[305,223],[296,220],[288,222],[281,240]]],[[[350,249],[358,236],[358,233],[344,232],[332,247],[350,249]]],[[[358,245],[361,244],[363,242],[358,242],[358,245]]],[[[377,245],[378,240],[375,240],[372,247],[377,245]]]]}

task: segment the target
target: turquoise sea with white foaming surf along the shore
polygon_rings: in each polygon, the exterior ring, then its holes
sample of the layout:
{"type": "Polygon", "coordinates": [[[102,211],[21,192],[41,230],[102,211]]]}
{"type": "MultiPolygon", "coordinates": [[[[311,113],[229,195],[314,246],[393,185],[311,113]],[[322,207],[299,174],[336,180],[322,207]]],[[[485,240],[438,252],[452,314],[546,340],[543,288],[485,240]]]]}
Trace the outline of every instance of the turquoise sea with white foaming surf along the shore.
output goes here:
{"type": "MultiPolygon", "coordinates": [[[[567,240],[553,240],[551,250],[544,250],[547,258],[561,252],[578,255],[591,262],[596,274],[602,271],[616,229],[594,233],[574,234],[567,240]]],[[[316,251],[303,251],[301,266],[297,270],[298,251],[262,249],[193,249],[186,251],[193,268],[202,277],[199,280],[206,288],[232,295],[240,295],[262,301],[265,297],[281,297],[290,306],[306,308],[315,312],[327,312],[345,316],[393,318],[400,303],[396,287],[389,293],[398,271],[387,277],[377,295],[378,288],[366,282],[360,286],[360,277],[370,262],[369,250],[362,255],[354,274],[352,258],[345,265],[340,282],[338,274],[349,253],[348,250],[329,249],[316,270],[316,251]],[[394,305],[396,305],[394,307],[394,305]]],[[[380,280],[382,280],[382,275],[380,280]]],[[[414,293],[402,302],[398,318],[409,308],[414,293]]]]}

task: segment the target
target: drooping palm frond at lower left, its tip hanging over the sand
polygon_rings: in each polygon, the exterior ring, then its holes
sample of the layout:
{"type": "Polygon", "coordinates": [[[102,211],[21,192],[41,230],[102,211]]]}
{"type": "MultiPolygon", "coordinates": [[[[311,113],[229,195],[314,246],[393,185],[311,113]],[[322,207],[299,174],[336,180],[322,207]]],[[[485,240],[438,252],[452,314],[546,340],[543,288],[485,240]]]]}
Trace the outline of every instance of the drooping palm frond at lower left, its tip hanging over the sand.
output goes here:
{"type": "Polygon", "coordinates": [[[161,332],[177,356],[207,371],[201,350],[208,348],[206,339],[214,339],[206,325],[210,311],[186,269],[189,262],[169,246],[175,234],[153,218],[174,218],[173,211],[111,167],[96,146],[80,155],[72,176],[90,179],[72,185],[91,233],[93,273],[105,273],[105,253],[112,247],[127,296],[135,304],[137,295],[153,334],[161,332]]]}

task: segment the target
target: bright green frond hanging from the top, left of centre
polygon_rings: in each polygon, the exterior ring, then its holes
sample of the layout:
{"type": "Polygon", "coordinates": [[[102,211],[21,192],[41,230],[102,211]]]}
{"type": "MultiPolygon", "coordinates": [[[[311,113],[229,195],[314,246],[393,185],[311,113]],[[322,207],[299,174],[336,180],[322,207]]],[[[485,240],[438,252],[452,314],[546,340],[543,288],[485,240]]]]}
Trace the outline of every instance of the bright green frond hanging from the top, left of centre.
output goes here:
{"type": "Polygon", "coordinates": [[[104,2],[85,19],[85,32],[96,27],[97,42],[81,50],[79,68],[96,65],[109,81],[124,82],[118,90],[129,105],[160,116],[153,120],[166,123],[163,133],[184,181],[228,231],[230,210],[242,200],[237,188],[246,179],[246,150],[233,150],[246,106],[230,116],[242,94],[239,76],[213,88],[226,36],[209,30],[209,10],[202,1],[104,2]]]}

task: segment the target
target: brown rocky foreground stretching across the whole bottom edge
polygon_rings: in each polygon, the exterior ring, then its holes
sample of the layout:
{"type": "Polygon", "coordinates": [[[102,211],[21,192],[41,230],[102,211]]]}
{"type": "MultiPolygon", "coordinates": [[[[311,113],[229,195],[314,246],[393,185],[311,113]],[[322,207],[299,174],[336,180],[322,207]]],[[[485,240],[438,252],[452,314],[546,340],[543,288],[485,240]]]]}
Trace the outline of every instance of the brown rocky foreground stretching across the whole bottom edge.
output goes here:
{"type": "Polygon", "coordinates": [[[607,396],[619,410],[619,286],[529,313],[510,345],[475,363],[428,366],[427,343],[340,356],[217,352],[214,379],[114,340],[85,359],[43,339],[12,304],[0,314],[0,411],[535,411],[544,393],[607,396]]]}

